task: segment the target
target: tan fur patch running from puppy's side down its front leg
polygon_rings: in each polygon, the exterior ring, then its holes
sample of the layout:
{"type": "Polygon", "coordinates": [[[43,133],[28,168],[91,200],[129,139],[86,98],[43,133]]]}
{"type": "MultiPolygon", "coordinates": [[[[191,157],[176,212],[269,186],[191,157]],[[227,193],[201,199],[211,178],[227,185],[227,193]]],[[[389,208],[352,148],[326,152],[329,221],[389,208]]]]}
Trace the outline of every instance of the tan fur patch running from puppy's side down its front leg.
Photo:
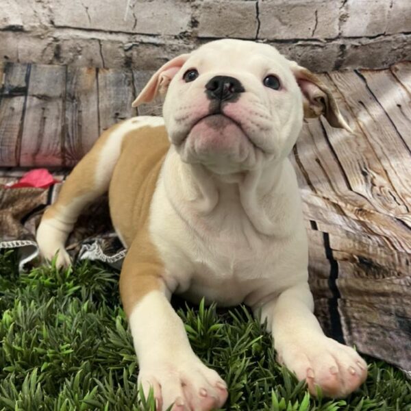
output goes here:
{"type": "Polygon", "coordinates": [[[164,264],[149,235],[149,217],[169,147],[164,126],[129,132],[110,182],[112,221],[129,247],[120,275],[121,301],[127,316],[141,297],[162,284],[164,264]]]}

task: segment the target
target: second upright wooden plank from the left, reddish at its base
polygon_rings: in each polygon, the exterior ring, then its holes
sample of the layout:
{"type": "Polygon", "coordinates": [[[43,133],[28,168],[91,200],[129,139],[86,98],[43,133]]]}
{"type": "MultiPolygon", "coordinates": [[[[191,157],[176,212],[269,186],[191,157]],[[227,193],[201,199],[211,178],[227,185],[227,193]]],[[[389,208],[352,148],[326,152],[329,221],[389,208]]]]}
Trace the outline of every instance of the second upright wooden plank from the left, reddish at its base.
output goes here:
{"type": "Polygon", "coordinates": [[[21,166],[64,164],[65,92],[65,66],[32,66],[21,139],[21,166]]]}

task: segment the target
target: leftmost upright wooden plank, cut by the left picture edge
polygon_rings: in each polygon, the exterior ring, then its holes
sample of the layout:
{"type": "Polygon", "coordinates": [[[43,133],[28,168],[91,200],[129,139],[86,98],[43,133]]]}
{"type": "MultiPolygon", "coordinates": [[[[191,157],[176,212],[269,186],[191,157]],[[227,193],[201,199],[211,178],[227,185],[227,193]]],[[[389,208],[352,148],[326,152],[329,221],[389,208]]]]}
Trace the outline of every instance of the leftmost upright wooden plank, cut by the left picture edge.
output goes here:
{"type": "Polygon", "coordinates": [[[27,97],[27,64],[0,68],[0,166],[17,166],[27,97]]]}

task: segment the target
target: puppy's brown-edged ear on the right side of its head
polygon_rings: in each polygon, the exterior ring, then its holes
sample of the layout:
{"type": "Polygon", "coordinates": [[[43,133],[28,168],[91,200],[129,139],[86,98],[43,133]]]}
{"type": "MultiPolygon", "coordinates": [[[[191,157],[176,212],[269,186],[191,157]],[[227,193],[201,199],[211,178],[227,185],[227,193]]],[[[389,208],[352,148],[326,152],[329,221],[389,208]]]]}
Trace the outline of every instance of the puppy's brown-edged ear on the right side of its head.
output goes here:
{"type": "Polygon", "coordinates": [[[290,62],[290,68],[303,95],[304,117],[312,119],[323,114],[332,127],[343,128],[352,133],[338,109],[331,90],[321,82],[321,79],[296,62],[290,62]]]}

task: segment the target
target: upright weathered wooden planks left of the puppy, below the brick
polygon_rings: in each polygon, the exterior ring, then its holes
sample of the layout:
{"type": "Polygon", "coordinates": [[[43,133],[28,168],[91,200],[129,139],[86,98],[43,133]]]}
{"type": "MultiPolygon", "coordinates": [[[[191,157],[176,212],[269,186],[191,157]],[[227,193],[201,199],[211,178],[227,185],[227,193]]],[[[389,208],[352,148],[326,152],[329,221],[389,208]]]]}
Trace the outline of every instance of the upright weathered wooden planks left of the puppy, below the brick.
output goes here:
{"type": "Polygon", "coordinates": [[[101,132],[138,114],[132,101],[152,73],[1,64],[0,167],[75,165],[101,132]]]}

